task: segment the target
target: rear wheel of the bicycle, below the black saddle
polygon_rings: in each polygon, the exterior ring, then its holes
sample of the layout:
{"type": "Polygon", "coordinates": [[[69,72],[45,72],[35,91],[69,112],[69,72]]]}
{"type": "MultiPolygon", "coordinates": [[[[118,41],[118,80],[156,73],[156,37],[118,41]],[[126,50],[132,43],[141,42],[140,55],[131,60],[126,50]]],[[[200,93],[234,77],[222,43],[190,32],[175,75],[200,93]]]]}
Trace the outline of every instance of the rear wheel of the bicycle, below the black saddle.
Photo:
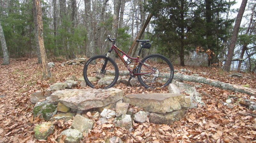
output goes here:
{"type": "Polygon", "coordinates": [[[174,69],[171,61],[163,55],[151,54],[141,60],[144,64],[139,64],[137,73],[141,85],[146,88],[156,88],[166,86],[172,82],[174,69]],[[152,70],[156,72],[152,73],[152,70]],[[142,74],[151,73],[151,74],[142,74]]]}

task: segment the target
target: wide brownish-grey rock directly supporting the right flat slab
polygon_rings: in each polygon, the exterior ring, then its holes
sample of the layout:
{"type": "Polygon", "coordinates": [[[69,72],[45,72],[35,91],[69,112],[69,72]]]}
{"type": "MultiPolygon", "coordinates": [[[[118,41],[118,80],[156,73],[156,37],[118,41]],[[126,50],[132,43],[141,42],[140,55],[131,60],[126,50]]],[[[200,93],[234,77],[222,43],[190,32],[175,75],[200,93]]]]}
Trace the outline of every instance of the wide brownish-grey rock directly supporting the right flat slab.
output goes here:
{"type": "Polygon", "coordinates": [[[172,125],[173,122],[179,121],[186,113],[186,108],[182,108],[180,110],[172,111],[166,114],[160,113],[150,113],[149,121],[150,123],[155,124],[168,124],[172,125]]]}

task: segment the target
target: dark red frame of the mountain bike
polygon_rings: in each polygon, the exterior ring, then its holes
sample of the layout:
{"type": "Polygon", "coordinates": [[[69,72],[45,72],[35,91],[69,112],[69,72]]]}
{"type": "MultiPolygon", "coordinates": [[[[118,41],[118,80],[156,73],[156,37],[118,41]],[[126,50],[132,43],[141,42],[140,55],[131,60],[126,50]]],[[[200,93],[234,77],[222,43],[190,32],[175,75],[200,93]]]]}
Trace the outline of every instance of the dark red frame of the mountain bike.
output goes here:
{"type": "MultiPolygon", "coordinates": [[[[142,47],[140,47],[140,51],[141,51],[141,48],[142,48],[142,47]]],[[[114,50],[114,51],[116,52],[116,54],[118,55],[118,57],[121,59],[121,61],[123,61],[124,65],[125,65],[126,68],[129,70],[129,72],[132,74],[132,76],[133,76],[133,75],[144,75],[144,74],[155,74],[156,70],[154,70],[154,69],[152,69],[152,68],[149,68],[147,65],[145,65],[145,64],[143,64],[141,61],[139,61],[139,58],[140,58],[140,51],[139,51],[139,54],[138,54],[138,56],[137,56],[136,58],[130,57],[129,55],[127,55],[126,53],[124,53],[124,51],[122,51],[121,49],[119,49],[119,48],[115,45],[115,41],[113,41],[112,46],[111,46],[111,48],[109,49],[109,52],[108,52],[108,53],[110,54],[112,50],[114,50]],[[123,53],[124,55],[126,55],[128,58],[130,58],[130,59],[132,59],[132,60],[136,60],[132,70],[128,67],[128,65],[126,64],[126,62],[124,61],[124,59],[121,57],[121,55],[118,53],[117,50],[120,51],[121,53],[123,53]],[[141,63],[142,65],[146,66],[148,69],[152,70],[152,72],[150,72],[150,73],[149,73],[149,72],[146,72],[146,73],[135,73],[136,66],[137,66],[138,62],[141,63]]],[[[107,55],[109,55],[108,53],[107,53],[107,55]]]]}

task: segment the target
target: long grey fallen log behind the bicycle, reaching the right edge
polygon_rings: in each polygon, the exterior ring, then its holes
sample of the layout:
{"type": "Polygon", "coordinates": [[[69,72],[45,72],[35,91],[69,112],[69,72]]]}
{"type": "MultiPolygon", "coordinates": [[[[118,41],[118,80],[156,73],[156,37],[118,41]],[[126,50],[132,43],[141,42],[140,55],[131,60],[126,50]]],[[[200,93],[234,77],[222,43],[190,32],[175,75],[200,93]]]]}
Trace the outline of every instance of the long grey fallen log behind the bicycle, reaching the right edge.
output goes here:
{"type": "MultiPolygon", "coordinates": [[[[107,73],[114,74],[114,71],[107,70],[107,73]]],[[[129,71],[119,71],[119,75],[129,75],[129,71]]],[[[158,77],[168,78],[170,74],[167,73],[159,73],[158,77]]],[[[182,75],[180,73],[174,74],[173,79],[180,79],[182,81],[189,81],[189,82],[197,82],[197,83],[204,83],[214,87],[219,87],[221,89],[231,90],[234,92],[241,92],[246,93],[249,95],[256,95],[256,89],[243,87],[240,85],[233,85],[225,82],[215,81],[209,78],[201,77],[201,76],[194,76],[194,75],[182,75]]]]}

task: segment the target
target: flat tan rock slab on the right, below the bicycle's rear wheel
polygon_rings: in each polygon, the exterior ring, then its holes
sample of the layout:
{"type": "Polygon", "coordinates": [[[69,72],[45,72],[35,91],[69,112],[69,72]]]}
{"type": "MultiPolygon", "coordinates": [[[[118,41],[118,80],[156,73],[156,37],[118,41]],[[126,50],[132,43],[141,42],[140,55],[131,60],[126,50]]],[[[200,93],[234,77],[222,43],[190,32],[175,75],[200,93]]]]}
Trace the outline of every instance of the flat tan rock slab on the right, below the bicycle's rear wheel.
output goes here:
{"type": "Polygon", "coordinates": [[[192,99],[184,94],[147,93],[126,95],[124,102],[148,112],[166,113],[190,107],[192,99]]]}

